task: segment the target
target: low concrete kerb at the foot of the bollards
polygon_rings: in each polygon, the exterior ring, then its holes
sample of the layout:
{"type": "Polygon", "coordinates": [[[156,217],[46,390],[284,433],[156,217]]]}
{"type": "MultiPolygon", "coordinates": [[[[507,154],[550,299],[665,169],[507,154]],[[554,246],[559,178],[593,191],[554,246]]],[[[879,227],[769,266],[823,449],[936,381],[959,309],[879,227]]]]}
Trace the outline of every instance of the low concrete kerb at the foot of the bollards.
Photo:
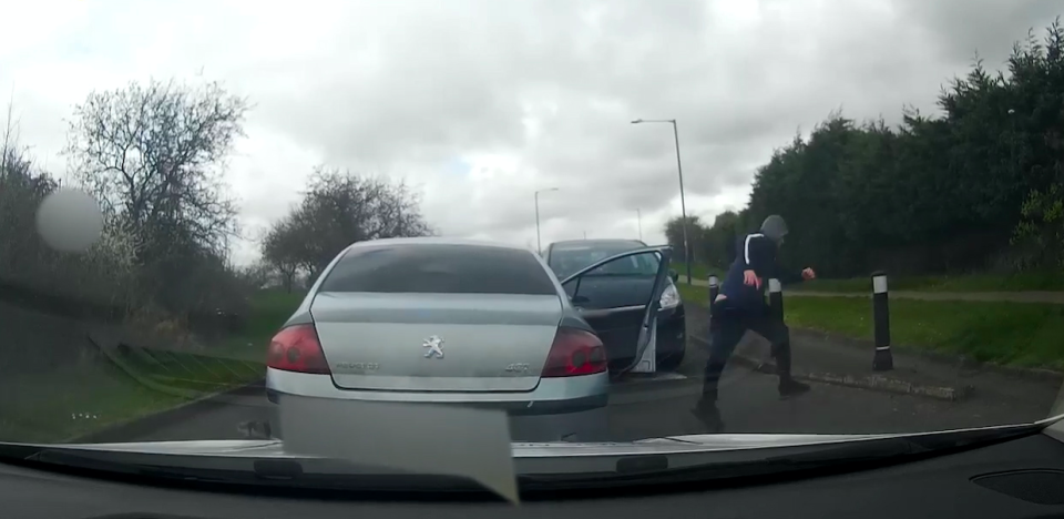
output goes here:
{"type": "MultiPolygon", "coordinates": [[[[707,343],[707,340],[702,337],[692,335],[692,338],[703,344],[707,343]]],[[[776,374],[776,365],[774,363],[761,358],[743,355],[738,352],[732,356],[732,362],[758,373],[768,375],[776,374]]],[[[791,375],[799,380],[831,384],[835,386],[856,387],[880,393],[891,393],[896,395],[912,395],[945,401],[958,401],[969,398],[973,393],[971,387],[958,388],[952,386],[930,386],[914,384],[880,374],[848,375],[794,369],[791,375]]]]}

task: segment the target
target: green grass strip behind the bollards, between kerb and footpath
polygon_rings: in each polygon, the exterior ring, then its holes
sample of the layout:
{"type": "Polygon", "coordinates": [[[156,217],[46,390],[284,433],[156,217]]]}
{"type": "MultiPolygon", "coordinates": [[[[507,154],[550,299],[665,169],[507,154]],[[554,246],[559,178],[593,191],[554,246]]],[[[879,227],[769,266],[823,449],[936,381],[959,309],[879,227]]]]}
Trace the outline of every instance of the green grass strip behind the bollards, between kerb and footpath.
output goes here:
{"type": "MultiPolygon", "coordinates": [[[[707,288],[681,285],[684,301],[705,306],[707,288]]],[[[796,328],[872,339],[870,298],[792,297],[784,301],[796,328]]],[[[892,346],[962,354],[979,362],[1064,370],[1064,306],[892,299],[892,346]]]]}

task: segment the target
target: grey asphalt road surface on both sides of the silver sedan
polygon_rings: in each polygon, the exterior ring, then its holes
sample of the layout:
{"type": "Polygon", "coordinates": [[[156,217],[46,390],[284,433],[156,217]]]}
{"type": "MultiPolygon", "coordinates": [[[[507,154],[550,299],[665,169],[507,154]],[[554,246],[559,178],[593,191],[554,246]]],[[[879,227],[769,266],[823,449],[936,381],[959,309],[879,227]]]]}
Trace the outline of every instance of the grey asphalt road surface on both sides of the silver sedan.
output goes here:
{"type": "MultiPolygon", "coordinates": [[[[702,362],[700,350],[692,345],[681,368],[686,379],[658,377],[615,386],[608,413],[612,439],[705,432],[688,410],[700,390],[697,374],[702,362]]],[[[800,398],[780,400],[774,376],[738,365],[725,372],[720,393],[727,432],[901,432],[1044,418],[1017,416],[1007,404],[988,399],[949,403],[830,385],[815,385],[800,398]]],[[[105,441],[246,438],[241,424],[265,420],[265,406],[260,391],[229,396],[225,401],[196,404],[168,423],[125,428],[130,431],[125,436],[111,436],[105,441]]]]}

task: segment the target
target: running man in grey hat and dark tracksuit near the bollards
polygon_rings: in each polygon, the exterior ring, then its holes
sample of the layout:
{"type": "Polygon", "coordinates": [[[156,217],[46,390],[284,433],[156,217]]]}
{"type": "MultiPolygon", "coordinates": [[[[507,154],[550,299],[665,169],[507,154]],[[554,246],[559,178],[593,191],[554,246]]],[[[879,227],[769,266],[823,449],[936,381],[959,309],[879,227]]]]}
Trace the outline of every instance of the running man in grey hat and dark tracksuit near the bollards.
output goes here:
{"type": "Polygon", "coordinates": [[[740,240],[737,243],[735,262],[732,263],[724,278],[720,293],[713,302],[706,379],[702,389],[702,399],[692,409],[692,413],[706,424],[710,432],[718,432],[724,428],[720,413],[717,410],[717,384],[728,358],[732,357],[732,353],[746,330],[753,330],[771,344],[781,398],[801,395],[809,390],[808,385],[791,378],[790,330],[781,320],[771,316],[769,306],[765,302],[764,286],[769,278],[787,284],[814,279],[817,276],[812,268],[791,273],[779,267],[776,255],[786,235],[787,222],[774,214],[765,218],[760,232],[748,234],[740,240]]]}

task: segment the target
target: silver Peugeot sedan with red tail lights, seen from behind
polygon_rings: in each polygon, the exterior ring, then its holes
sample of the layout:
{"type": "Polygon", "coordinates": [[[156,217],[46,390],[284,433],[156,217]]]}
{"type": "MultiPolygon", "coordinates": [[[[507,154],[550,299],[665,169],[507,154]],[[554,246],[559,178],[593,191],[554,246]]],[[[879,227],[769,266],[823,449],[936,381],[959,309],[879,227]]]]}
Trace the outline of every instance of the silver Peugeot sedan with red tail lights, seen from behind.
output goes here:
{"type": "Polygon", "coordinates": [[[605,435],[606,352],[532,251],[439,237],[358,242],[274,336],[266,388],[286,397],[504,409],[521,441],[605,435]]]}

